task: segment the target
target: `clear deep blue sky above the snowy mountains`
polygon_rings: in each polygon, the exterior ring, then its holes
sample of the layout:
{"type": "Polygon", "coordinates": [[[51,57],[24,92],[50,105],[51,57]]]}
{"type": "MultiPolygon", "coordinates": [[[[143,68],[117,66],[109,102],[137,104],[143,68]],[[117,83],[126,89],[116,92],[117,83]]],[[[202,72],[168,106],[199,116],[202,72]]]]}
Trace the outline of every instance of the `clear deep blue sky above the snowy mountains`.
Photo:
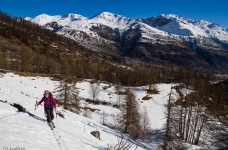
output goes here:
{"type": "Polygon", "coordinates": [[[228,28],[228,0],[1,0],[0,10],[12,16],[67,13],[92,17],[107,11],[129,18],[176,14],[228,28]]]}

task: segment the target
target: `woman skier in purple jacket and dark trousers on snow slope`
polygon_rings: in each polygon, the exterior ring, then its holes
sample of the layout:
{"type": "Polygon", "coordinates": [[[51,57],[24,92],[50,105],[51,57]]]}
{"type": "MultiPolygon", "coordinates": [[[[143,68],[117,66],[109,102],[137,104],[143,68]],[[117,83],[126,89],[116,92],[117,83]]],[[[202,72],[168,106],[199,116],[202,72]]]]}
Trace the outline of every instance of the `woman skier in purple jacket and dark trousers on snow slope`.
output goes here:
{"type": "Polygon", "coordinates": [[[36,104],[36,106],[38,107],[42,102],[44,102],[44,111],[47,117],[48,125],[55,127],[53,122],[53,107],[56,110],[56,102],[50,91],[44,91],[44,97],[36,104]]]}

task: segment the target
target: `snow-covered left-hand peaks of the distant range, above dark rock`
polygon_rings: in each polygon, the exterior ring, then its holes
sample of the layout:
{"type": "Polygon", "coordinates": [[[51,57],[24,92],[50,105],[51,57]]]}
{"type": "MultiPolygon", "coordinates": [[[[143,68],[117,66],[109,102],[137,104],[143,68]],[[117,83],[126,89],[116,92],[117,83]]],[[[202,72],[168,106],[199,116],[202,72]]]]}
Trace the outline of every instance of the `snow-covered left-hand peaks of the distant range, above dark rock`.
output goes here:
{"type": "Polygon", "coordinates": [[[112,14],[109,12],[100,13],[94,17],[83,17],[78,14],[67,14],[67,15],[56,15],[49,16],[46,14],[41,14],[33,19],[26,17],[26,20],[30,20],[39,25],[45,25],[51,22],[57,22],[61,26],[67,26],[68,28],[84,31],[90,33],[92,26],[107,25],[111,28],[119,28],[124,30],[135,23],[134,19],[129,19],[121,15],[112,14]]]}

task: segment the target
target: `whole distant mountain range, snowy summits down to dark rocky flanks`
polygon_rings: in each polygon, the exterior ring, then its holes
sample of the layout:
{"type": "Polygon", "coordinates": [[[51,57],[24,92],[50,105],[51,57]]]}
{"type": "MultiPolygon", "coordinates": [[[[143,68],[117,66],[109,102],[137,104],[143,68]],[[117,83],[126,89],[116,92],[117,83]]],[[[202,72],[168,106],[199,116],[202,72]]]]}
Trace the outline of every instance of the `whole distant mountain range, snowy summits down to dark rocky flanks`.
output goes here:
{"type": "Polygon", "coordinates": [[[228,30],[174,14],[130,19],[103,12],[27,18],[91,51],[118,61],[164,62],[228,72],[228,30]]]}

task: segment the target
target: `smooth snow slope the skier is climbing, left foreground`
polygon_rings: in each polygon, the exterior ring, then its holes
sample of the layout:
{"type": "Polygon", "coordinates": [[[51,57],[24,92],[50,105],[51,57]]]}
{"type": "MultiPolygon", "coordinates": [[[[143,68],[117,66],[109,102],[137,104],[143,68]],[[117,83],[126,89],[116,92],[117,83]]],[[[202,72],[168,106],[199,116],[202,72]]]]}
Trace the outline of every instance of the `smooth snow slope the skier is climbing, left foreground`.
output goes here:
{"type": "MultiPolygon", "coordinates": [[[[99,122],[76,115],[58,107],[65,119],[58,116],[55,119],[57,128],[50,130],[45,122],[43,106],[34,111],[36,100],[42,98],[43,90],[54,90],[58,82],[45,77],[22,77],[14,73],[0,75],[0,146],[24,149],[104,149],[107,144],[117,143],[116,132],[99,122]],[[19,103],[27,112],[17,112],[10,104],[19,103]],[[101,141],[93,137],[90,132],[99,130],[101,141]]],[[[87,81],[80,83],[86,91],[87,81]]],[[[112,92],[110,89],[109,92],[112,92]]],[[[86,93],[81,92],[80,96],[86,93]]],[[[103,93],[104,94],[104,93],[103,93]]],[[[109,106],[107,106],[109,107],[109,106]]],[[[95,113],[96,114],[96,113],[95,113]]],[[[153,149],[142,143],[138,149],[153,149]]],[[[132,148],[135,148],[134,146],[132,148]]]]}

